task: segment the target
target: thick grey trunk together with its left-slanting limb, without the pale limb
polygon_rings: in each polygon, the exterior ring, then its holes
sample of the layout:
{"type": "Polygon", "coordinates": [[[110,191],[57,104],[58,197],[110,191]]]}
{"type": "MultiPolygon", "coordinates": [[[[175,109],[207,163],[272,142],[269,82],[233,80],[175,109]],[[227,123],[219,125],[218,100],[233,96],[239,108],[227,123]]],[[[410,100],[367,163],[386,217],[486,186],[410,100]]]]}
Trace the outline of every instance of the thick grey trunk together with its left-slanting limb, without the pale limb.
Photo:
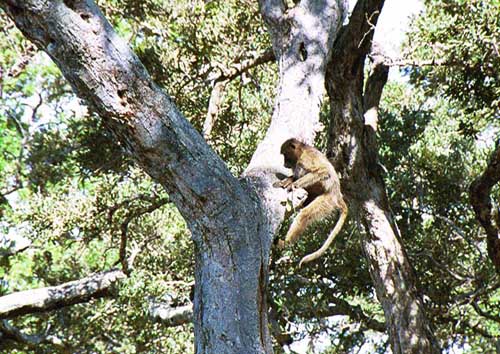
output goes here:
{"type": "Polygon", "coordinates": [[[0,6],[186,219],[196,255],[196,352],[270,352],[265,283],[271,233],[253,190],[230,174],[93,1],[8,0],[0,6]]]}

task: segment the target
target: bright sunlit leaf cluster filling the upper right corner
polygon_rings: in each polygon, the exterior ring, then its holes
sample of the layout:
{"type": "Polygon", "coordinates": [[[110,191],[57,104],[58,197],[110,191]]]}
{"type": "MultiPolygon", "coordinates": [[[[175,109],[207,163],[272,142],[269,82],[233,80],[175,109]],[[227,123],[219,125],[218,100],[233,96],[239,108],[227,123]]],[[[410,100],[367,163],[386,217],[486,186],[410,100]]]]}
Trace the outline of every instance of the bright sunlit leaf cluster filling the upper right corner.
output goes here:
{"type": "Polygon", "coordinates": [[[443,93],[453,99],[468,120],[498,118],[500,2],[433,0],[426,5],[407,49],[414,59],[442,65],[413,70],[413,81],[428,94],[443,93]]]}

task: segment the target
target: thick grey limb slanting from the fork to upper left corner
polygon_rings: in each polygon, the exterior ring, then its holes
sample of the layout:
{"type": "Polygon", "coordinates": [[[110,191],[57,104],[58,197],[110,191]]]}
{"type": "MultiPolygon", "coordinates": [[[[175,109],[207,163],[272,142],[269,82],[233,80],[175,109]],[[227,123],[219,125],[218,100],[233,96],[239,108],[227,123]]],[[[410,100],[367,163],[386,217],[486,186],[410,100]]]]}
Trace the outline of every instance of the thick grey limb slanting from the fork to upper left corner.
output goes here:
{"type": "Polygon", "coordinates": [[[188,222],[217,219],[214,211],[248,195],[93,1],[9,0],[0,6],[166,188],[188,222]]]}

